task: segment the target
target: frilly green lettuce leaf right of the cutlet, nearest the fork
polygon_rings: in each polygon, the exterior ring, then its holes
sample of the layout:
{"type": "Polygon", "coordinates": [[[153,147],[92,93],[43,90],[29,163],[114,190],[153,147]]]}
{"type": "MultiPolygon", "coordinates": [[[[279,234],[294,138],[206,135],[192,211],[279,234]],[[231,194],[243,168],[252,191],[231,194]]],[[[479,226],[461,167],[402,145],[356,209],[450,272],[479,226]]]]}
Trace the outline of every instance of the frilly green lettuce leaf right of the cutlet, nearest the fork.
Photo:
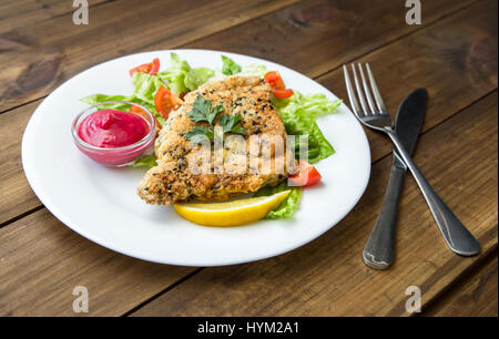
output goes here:
{"type": "MultiPolygon", "coordinates": [[[[308,141],[308,162],[315,164],[335,153],[329,142],[324,137],[316,120],[333,113],[340,100],[328,100],[324,94],[302,94],[295,91],[289,99],[275,99],[274,104],[283,119],[289,135],[304,135],[308,141]]],[[[296,138],[295,155],[298,156],[299,138],[296,138]]]]}

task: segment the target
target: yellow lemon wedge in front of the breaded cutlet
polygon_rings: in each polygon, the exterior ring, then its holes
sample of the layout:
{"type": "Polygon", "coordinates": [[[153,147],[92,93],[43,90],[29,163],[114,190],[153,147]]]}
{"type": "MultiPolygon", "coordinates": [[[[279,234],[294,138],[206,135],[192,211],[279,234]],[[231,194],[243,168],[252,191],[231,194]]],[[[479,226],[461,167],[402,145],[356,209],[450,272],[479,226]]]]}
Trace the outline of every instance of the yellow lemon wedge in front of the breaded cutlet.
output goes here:
{"type": "Polygon", "coordinates": [[[291,191],[226,203],[173,204],[183,218],[203,226],[238,226],[262,219],[276,208],[291,191]]]}

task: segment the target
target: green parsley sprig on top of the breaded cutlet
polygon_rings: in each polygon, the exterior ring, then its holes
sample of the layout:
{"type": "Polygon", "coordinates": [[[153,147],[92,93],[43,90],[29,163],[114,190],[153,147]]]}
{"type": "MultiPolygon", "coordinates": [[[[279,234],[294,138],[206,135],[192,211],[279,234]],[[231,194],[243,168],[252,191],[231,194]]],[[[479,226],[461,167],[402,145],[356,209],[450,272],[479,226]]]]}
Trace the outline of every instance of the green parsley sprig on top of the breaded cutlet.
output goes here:
{"type": "MultiPolygon", "coordinates": [[[[193,143],[200,143],[204,140],[213,140],[215,133],[213,121],[215,120],[218,113],[224,111],[223,105],[215,105],[212,107],[212,102],[210,100],[204,99],[201,95],[197,95],[196,100],[192,104],[193,110],[187,113],[187,115],[194,122],[207,122],[210,126],[195,126],[190,132],[185,134],[185,137],[189,138],[193,143]]],[[[244,129],[241,126],[241,114],[234,114],[228,116],[226,114],[218,117],[217,122],[222,127],[223,138],[224,133],[237,133],[237,134],[246,134],[244,129]]]]}

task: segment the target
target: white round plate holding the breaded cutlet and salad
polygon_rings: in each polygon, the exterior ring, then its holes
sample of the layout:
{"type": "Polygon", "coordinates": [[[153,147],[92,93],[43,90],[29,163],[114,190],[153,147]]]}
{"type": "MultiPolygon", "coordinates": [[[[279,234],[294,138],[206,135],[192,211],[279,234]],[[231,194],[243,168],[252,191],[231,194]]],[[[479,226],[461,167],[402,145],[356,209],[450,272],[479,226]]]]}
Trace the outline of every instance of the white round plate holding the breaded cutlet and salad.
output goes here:
{"type": "MultiPolygon", "coordinates": [[[[144,260],[220,266],[258,260],[297,248],[318,237],[355,206],[370,173],[367,137],[352,112],[318,119],[336,153],[319,162],[322,184],[304,189],[299,210],[286,220],[261,220],[230,228],[194,225],[171,206],[151,206],[135,194],[144,168],[108,168],[78,151],[71,138],[73,117],[88,107],[81,97],[93,93],[131,94],[129,70],[159,58],[161,70],[170,52],[128,55],[93,66],[53,91],[35,110],[22,138],[22,164],[44,206],[82,236],[119,253],[144,260]]],[[[246,55],[173,50],[191,66],[221,68],[221,55],[237,63],[264,64],[302,93],[336,96],[317,82],[283,65],[246,55]]]]}

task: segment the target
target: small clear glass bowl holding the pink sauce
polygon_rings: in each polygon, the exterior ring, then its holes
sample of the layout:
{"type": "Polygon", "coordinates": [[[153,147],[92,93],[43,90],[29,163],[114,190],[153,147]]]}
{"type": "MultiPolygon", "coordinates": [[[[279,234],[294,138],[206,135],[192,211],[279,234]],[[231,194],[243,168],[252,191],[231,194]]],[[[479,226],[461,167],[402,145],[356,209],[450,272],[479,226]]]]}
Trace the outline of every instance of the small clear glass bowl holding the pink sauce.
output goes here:
{"type": "MultiPolygon", "coordinates": [[[[134,114],[134,113],[130,113],[134,114]]],[[[154,137],[156,135],[156,121],[154,119],[154,115],[144,106],[134,103],[134,102],[128,102],[128,101],[105,101],[100,102],[98,104],[94,104],[93,106],[88,107],[80,114],[78,114],[74,117],[71,133],[73,135],[73,141],[77,147],[88,157],[91,160],[105,165],[105,166],[125,166],[131,163],[133,163],[135,160],[138,160],[141,155],[143,155],[153,144],[154,144],[154,137]],[[147,124],[150,126],[150,131],[147,135],[145,135],[143,138],[138,141],[134,144],[122,146],[122,147],[115,147],[115,148],[103,148],[93,146],[89,143],[85,143],[83,140],[81,140],[80,135],[78,135],[78,130],[80,129],[81,122],[89,116],[90,114],[99,111],[99,106],[103,104],[113,104],[113,103],[122,103],[122,104],[130,104],[130,105],[136,105],[140,109],[142,109],[146,114],[141,115],[147,121],[147,124]]]]}

